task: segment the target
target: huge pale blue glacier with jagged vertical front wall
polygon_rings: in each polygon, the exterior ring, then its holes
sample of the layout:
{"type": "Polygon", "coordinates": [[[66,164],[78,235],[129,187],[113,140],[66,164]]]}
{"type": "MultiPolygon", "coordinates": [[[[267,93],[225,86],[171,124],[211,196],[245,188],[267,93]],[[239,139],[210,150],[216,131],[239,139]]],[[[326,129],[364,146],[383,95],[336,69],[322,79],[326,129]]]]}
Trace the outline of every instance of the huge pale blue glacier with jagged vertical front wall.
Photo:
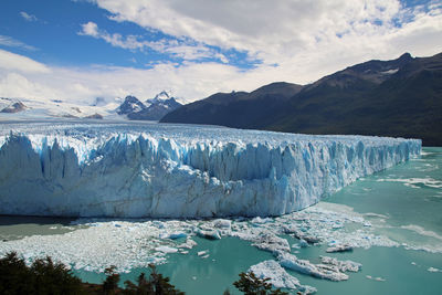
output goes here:
{"type": "Polygon", "coordinates": [[[0,124],[0,214],[281,215],[421,152],[420,139],[149,123],[0,124]]]}

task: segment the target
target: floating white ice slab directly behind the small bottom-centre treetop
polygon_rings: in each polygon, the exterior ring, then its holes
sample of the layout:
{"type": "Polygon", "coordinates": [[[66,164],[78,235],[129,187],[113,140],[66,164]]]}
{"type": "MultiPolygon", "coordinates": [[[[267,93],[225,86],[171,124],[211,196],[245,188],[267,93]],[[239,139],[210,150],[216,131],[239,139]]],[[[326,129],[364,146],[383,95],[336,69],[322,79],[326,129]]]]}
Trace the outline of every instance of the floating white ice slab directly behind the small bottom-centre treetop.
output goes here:
{"type": "Polygon", "coordinates": [[[269,283],[277,288],[298,289],[303,292],[303,294],[313,294],[316,292],[316,288],[314,287],[301,285],[299,281],[296,277],[290,275],[274,260],[267,260],[256,265],[253,265],[249,268],[249,272],[253,272],[256,277],[261,280],[270,278],[269,283]]]}

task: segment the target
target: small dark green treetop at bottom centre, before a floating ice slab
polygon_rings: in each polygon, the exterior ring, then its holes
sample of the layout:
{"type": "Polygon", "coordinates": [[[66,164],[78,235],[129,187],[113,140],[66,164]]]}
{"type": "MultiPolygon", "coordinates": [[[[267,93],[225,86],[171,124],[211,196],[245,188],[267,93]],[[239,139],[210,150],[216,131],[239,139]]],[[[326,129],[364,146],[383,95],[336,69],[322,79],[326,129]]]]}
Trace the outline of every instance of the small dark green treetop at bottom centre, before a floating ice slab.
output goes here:
{"type": "Polygon", "coordinates": [[[259,278],[253,272],[240,273],[240,280],[233,285],[245,295],[288,295],[280,288],[272,289],[270,278],[259,278]]]}

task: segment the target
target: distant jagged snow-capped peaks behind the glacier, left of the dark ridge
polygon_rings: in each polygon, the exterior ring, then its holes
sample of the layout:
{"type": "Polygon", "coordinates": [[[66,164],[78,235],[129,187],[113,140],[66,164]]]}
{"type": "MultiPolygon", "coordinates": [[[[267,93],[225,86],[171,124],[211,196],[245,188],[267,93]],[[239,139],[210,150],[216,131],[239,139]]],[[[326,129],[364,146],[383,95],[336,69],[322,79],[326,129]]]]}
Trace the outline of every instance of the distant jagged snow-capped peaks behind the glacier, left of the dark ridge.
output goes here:
{"type": "Polygon", "coordinates": [[[181,104],[167,92],[160,92],[154,98],[145,103],[135,96],[126,96],[123,104],[117,108],[118,115],[125,115],[128,119],[159,120],[166,114],[177,109],[181,104]]]}

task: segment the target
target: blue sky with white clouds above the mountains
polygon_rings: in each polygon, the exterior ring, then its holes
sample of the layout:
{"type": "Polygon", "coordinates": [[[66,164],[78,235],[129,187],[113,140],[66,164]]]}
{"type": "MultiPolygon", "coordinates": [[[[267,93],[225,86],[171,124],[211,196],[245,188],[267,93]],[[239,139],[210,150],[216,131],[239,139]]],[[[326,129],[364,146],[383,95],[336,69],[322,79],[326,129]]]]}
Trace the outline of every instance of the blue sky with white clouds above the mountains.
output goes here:
{"type": "Polygon", "coordinates": [[[442,2],[1,0],[0,97],[181,102],[442,52],[442,2]]]}

